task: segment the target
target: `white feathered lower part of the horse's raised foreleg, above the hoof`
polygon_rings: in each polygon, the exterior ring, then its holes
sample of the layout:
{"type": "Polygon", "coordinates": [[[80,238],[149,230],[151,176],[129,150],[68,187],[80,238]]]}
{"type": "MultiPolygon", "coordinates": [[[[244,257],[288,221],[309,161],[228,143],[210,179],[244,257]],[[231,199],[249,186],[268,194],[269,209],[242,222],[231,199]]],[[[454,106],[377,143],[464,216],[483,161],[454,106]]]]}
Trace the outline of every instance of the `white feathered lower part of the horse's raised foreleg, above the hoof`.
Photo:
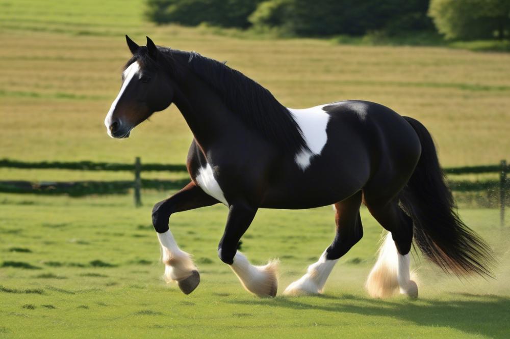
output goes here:
{"type": "Polygon", "coordinates": [[[164,277],[167,283],[183,280],[189,277],[193,271],[198,271],[190,255],[177,246],[170,230],[165,233],[158,233],[158,239],[163,252],[164,277]]]}

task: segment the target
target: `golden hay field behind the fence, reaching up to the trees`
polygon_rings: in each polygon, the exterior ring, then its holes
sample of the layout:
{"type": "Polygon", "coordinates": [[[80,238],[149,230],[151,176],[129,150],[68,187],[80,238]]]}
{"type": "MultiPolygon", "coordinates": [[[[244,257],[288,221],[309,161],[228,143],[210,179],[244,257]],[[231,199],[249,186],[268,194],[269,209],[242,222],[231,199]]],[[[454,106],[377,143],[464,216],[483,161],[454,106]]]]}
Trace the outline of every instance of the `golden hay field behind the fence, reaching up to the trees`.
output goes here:
{"type": "Polygon", "coordinates": [[[326,40],[241,40],[207,29],[153,26],[142,0],[0,1],[0,154],[23,160],[182,163],[191,133],[170,108],[109,140],[103,120],[139,43],[228,61],[289,107],[365,99],[421,120],[443,165],[492,164],[510,149],[510,54],[445,48],[337,45],[326,40]]]}

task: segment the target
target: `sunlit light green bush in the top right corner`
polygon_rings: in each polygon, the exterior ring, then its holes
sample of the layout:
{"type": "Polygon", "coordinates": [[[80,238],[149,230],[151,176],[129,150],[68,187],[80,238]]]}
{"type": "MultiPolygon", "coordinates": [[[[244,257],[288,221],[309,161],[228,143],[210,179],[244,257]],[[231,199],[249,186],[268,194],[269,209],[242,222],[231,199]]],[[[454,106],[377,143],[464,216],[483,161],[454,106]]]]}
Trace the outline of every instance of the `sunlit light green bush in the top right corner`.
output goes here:
{"type": "Polygon", "coordinates": [[[510,34],[508,0],[431,0],[429,15],[447,39],[503,39],[510,34]]]}

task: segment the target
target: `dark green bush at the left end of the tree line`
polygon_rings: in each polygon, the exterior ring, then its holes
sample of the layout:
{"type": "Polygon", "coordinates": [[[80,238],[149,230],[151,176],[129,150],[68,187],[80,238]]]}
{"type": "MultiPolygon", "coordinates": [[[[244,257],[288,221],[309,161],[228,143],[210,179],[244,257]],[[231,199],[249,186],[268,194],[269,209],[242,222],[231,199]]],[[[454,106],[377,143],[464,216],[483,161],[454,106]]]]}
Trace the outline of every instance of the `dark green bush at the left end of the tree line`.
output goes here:
{"type": "Polygon", "coordinates": [[[246,28],[248,16],[261,0],[146,0],[145,16],[158,24],[196,26],[202,22],[246,28]]]}

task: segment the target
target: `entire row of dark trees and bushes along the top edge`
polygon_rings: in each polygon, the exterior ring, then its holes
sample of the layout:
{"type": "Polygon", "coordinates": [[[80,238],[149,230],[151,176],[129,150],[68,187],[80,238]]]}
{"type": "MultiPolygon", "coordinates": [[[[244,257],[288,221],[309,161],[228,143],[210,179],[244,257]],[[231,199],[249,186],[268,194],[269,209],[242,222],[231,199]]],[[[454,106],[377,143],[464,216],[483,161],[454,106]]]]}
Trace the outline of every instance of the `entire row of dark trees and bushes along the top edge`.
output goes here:
{"type": "Polygon", "coordinates": [[[206,23],[293,36],[437,31],[447,39],[510,36],[510,0],[146,0],[158,24],[206,23]]]}

